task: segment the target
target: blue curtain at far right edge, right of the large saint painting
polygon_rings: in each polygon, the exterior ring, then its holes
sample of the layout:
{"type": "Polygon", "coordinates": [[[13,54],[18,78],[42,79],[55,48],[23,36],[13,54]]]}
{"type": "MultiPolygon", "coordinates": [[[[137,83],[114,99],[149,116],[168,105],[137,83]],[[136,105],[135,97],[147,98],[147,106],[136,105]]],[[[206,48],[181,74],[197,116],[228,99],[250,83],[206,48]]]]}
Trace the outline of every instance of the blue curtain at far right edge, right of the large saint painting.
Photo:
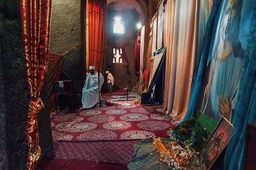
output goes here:
{"type": "MultiPolygon", "coordinates": [[[[243,8],[244,6],[245,4],[243,4],[243,8]]],[[[224,169],[230,170],[242,169],[246,125],[247,123],[256,123],[256,1],[247,3],[247,8],[244,11],[245,13],[251,11],[252,18],[247,33],[238,103],[235,106],[235,117],[232,122],[236,132],[230,139],[225,154],[224,169]]],[[[246,17],[250,16],[246,15],[246,17]]]]}

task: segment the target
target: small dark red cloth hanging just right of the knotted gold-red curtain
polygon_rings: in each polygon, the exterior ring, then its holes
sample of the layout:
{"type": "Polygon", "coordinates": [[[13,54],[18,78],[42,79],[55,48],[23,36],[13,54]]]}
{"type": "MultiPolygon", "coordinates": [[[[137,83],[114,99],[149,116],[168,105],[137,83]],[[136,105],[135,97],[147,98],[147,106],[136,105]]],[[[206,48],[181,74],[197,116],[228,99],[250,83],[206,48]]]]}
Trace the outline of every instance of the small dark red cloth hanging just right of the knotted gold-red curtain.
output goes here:
{"type": "Polygon", "coordinates": [[[58,81],[60,78],[60,70],[62,66],[63,55],[55,55],[49,54],[49,63],[47,69],[47,77],[48,77],[48,90],[49,90],[49,105],[50,112],[53,113],[55,108],[55,100],[54,100],[54,91],[53,91],[53,82],[58,81]]]}

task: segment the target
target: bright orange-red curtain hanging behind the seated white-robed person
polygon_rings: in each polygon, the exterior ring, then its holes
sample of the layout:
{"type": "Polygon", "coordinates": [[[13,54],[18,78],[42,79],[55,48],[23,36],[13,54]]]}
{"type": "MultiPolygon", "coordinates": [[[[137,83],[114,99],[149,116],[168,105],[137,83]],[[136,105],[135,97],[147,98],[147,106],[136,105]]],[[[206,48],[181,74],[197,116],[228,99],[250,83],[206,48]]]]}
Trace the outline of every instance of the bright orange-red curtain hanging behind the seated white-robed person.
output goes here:
{"type": "Polygon", "coordinates": [[[86,68],[100,67],[103,72],[107,38],[107,1],[87,0],[86,6],[86,68]]]}

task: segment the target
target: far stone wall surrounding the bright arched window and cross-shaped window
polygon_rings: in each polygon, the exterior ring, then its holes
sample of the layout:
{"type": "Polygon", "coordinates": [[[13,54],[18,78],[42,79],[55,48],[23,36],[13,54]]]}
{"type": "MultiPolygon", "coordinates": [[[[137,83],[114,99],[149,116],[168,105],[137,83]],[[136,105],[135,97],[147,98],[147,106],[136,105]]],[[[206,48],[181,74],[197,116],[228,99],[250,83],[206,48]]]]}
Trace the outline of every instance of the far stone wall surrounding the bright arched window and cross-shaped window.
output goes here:
{"type": "MultiPolygon", "coordinates": [[[[135,81],[135,59],[134,49],[137,38],[137,27],[139,13],[132,10],[114,11],[109,10],[107,16],[107,48],[105,55],[105,70],[110,71],[114,76],[115,86],[120,88],[134,86],[135,81]],[[114,16],[121,16],[124,21],[124,34],[113,33],[114,16]],[[129,64],[130,74],[127,74],[125,64],[113,63],[113,47],[124,47],[129,64]]],[[[124,63],[124,61],[123,61],[124,63]]],[[[106,83],[107,81],[105,81],[106,83]]]]}

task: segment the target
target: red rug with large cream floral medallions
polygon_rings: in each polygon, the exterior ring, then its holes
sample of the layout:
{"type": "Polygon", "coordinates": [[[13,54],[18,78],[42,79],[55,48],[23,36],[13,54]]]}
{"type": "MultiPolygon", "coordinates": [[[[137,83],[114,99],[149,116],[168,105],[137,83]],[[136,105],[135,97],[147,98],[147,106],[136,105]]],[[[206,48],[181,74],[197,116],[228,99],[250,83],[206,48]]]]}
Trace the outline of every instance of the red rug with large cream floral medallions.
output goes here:
{"type": "Polygon", "coordinates": [[[168,137],[174,124],[158,108],[120,101],[114,106],[80,109],[78,113],[52,114],[51,127],[55,141],[102,141],[168,137]]]}

